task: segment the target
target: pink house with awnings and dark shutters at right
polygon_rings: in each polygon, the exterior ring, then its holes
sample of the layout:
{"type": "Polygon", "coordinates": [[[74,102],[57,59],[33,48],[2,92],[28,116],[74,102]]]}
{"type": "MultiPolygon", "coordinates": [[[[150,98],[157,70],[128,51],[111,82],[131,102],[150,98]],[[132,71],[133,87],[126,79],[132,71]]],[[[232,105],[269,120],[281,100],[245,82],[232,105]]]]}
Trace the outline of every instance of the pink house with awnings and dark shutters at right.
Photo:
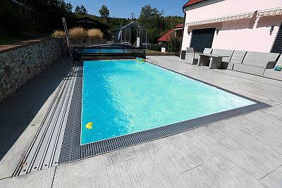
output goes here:
{"type": "Polygon", "coordinates": [[[190,0],[183,13],[181,50],[282,53],[281,0],[190,0]]]}

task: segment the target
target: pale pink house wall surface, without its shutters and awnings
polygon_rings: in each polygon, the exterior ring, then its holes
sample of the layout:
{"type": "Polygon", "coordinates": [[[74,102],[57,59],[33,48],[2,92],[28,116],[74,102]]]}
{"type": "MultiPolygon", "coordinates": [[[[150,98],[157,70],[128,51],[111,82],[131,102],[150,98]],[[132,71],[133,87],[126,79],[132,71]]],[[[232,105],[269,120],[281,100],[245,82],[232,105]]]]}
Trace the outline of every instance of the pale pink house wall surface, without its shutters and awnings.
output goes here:
{"type": "MultiPolygon", "coordinates": [[[[281,6],[282,0],[220,1],[216,4],[210,4],[186,11],[185,23],[240,13],[262,11],[264,9],[277,8],[281,6]]],[[[216,30],[219,29],[219,35],[216,35],[215,33],[212,48],[269,52],[271,51],[271,47],[274,43],[281,22],[282,15],[275,15],[260,18],[258,16],[254,16],[251,19],[229,21],[224,23],[195,25],[189,27],[185,26],[182,49],[185,50],[186,47],[190,46],[192,35],[188,35],[188,30],[191,32],[192,30],[216,27],[216,30]],[[275,27],[272,35],[269,35],[271,25],[274,25],[275,27]]]]}

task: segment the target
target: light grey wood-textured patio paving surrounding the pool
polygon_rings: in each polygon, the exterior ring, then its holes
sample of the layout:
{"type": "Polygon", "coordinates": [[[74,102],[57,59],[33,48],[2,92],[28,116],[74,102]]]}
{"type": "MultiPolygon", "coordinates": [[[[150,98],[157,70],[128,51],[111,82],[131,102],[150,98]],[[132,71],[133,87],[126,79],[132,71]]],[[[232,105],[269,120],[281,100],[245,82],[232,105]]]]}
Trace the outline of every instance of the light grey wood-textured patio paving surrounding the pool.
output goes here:
{"type": "Polygon", "coordinates": [[[62,58],[0,102],[0,187],[282,187],[282,82],[200,68],[175,56],[147,61],[273,107],[11,177],[71,68],[71,59],[62,58]]]}

